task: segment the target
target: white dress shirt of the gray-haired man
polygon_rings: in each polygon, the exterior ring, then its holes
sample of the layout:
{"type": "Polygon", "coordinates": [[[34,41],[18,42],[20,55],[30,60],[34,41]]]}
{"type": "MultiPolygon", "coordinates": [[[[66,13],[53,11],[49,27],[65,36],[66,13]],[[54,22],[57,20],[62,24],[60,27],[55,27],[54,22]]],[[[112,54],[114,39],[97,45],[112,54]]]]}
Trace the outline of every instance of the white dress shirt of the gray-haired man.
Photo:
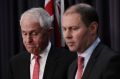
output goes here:
{"type": "MultiPolygon", "coordinates": [[[[39,79],[43,79],[43,73],[44,73],[44,69],[45,69],[45,64],[46,64],[46,60],[47,60],[50,48],[51,48],[51,43],[49,42],[49,44],[46,47],[46,49],[44,51],[42,51],[42,53],[39,54],[40,55],[40,61],[39,61],[39,63],[40,63],[39,79]]],[[[33,76],[34,64],[35,64],[35,58],[34,58],[34,55],[31,54],[30,79],[32,79],[32,76],[33,76]]]]}

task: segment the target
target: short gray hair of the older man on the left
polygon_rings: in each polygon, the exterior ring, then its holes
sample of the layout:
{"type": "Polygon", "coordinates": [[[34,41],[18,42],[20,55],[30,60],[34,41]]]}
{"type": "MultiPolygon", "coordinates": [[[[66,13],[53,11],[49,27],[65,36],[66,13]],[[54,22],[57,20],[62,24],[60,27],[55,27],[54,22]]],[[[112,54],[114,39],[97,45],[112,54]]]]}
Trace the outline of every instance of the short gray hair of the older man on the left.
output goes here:
{"type": "Polygon", "coordinates": [[[20,25],[22,24],[22,20],[25,16],[32,16],[37,20],[41,27],[49,28],[52,25],[52,20],[50,15],[47,11],[45,11],[43,8],[31,8],[27,11],[25,11],[20,18],[20,25]]]}

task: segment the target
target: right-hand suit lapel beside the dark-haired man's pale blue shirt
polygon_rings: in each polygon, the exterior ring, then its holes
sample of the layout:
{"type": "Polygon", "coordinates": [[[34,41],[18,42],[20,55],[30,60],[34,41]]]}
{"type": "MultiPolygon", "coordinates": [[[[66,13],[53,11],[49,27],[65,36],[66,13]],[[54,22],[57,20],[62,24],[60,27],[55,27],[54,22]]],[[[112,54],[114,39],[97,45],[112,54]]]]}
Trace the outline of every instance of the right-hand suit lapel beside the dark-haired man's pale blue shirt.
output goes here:
{"type": "Polygon", "coordinates": [[[85,68],[85,71],[83,73],[83,77],[82,79],[89,79],[90,73],[92,72],[92,69],[94,67],[94,64],[97,60],[97,56],[100,54],[101,49],[103,48],[103,46],[101,45],[101,43],[98,44],[98,46],[95,48],[95,50],[93,51],[89,62],[85,68]]]}

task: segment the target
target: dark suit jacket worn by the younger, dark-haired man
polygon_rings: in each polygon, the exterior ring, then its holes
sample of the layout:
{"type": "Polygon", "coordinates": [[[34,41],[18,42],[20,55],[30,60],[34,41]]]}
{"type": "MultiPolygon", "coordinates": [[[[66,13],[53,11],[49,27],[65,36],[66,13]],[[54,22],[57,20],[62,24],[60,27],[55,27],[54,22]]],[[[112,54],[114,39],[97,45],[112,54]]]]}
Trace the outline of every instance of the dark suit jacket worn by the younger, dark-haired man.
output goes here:
{"type": "MultiPolygon", "coordinates": [[[[75,79],[77,59],[68,71],[68,79],[75,79]]],[[[100,43],[93,51],[82,79],[120,79],[120,56],[100,43]]]]}

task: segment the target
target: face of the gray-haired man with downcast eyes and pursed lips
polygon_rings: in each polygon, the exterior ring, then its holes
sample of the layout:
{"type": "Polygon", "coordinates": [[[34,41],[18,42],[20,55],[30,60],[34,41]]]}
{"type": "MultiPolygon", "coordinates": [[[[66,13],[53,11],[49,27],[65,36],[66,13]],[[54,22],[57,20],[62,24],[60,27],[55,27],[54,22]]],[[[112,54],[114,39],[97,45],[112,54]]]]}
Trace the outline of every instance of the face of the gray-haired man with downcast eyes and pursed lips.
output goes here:
{"type": "Polygon", "coordinates": [[[48,43],[48,33],[43,31],[39,22],[34,18],[24,17],[21,24],[21,33],[25,48],[29,53],[36,54],[43,50],[48,43]]]}

